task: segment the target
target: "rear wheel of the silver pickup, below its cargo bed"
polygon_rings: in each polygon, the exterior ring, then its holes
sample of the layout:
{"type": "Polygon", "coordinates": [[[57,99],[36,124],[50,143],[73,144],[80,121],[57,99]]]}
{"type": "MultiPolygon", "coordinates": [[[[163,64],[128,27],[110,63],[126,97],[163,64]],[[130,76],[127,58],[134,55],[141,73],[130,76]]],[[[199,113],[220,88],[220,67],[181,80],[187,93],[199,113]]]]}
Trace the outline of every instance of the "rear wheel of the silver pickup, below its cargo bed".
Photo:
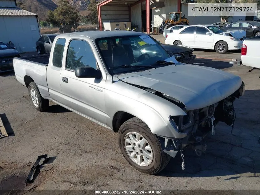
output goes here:
{"type": "Polygon", "coordinates": [[[28,90],[30,99],[32,100],[33,106],[36,110],[42,112],[49,107],[50,101],[42,97],[35,82],[29,84],[28,90]]]}

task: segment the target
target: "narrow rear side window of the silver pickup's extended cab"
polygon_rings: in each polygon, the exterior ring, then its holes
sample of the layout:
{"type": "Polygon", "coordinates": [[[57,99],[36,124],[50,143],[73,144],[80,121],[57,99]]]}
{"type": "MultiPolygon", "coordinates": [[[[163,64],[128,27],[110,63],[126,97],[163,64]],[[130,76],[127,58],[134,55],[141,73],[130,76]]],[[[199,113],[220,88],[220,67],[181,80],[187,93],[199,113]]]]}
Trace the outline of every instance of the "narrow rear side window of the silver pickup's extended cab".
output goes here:
{"type": "Polygon", "coordinates": [[[53,66],[62,67],[62,58],[63,58],[63,51],[65,46],[66,39],[60,38],[56,41],[53,56],[52,56],[52,64],[53,66]]]}

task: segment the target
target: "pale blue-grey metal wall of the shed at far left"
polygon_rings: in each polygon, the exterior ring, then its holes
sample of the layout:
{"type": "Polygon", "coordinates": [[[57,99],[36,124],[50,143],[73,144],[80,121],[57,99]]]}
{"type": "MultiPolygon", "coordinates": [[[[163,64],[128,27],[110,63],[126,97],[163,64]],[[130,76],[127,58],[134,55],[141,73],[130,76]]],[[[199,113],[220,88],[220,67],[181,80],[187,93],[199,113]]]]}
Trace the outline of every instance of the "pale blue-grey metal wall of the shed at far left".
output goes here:
{"type": "Polygon", "coordinates": [[[36,51],[35,42],[40,38],[36,16],[0,16],[1,41],[12,41],[17,51],[36,51]]]}

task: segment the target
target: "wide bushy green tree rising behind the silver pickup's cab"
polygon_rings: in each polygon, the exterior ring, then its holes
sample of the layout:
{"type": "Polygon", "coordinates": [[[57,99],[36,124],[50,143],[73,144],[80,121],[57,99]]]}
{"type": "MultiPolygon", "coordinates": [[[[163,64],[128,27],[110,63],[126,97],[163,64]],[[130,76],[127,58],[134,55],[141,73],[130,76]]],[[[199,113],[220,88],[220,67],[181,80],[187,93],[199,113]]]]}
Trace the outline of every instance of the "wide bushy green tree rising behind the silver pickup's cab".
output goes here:
{"type": "Polygon", "coordinates": [[[78,10],[71,6],[67,0],[59,0],[58,7],[54,11],[48,11],[47,13],[47,22],[58,25],[61,32],[71,32],[71,28],[75,31],[79,20],[78,10]]]}

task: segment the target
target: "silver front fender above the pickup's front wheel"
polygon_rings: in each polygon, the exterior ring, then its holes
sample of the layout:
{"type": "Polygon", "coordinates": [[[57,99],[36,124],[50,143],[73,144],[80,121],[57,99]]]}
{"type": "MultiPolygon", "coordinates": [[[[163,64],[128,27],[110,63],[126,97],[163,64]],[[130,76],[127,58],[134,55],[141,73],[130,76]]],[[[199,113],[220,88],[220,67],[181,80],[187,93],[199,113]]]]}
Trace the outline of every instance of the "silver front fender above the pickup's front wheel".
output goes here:
{"type": "Polygon", "coordinates": [[[118,81],[108,84],[105,105],[108,115],[107,125],[113,129],[113,117],[118,111],[127,112],[144,121],[151,132],[166,137],[183,138],[187,133],[180,133],[171,125],[169,116],[183,116],[186,113],[177,105],[151,92],[118,81]]]}

